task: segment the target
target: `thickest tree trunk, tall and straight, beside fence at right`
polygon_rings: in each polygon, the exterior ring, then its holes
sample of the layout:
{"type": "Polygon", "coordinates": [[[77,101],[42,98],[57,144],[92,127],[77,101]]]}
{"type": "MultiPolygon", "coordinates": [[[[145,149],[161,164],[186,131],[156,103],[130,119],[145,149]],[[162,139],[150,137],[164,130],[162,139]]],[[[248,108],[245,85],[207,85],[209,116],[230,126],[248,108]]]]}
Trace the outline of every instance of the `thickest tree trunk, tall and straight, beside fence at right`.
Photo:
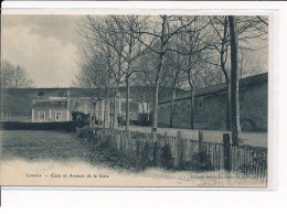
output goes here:
{"type": "Polygon", "coordinates": [[[236,18],[228,17],[231,33],[231,131],[232,142],[238,145],[241,138],[240,121],[240,88],[238,88],[238,42],[237,42],[237,23],[236,18]]]}

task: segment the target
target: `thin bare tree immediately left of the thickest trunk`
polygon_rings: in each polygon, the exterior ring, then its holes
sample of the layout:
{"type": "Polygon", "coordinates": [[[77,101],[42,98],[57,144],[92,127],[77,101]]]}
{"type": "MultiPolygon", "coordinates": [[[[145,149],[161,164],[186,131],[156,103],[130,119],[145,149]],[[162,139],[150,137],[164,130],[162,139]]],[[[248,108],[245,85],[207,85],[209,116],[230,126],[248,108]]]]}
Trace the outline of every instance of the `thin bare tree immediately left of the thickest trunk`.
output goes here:
{"type": "MultiPolygon", "coordinates": [[[[231,130],[231,75],[230,75],[230,49],[231,49],[231,34],[230,22],[226,15],[210,17],[211,28],[213,29],[212,42],[209,45],[213,47],[214,52],[209,53],[209,57],[205,57],[205,63],[221,67],[226,84],[226,130],[231,130]],[[219,55],[219,57],[217,57],[219,55]],[[209,60],[206,60],[209,58],[209,60]]],[[[265,17],[237,17],[237,40],[238,53],[243,50],[256,51],[264,47],[258,41],[265,40],[267,33],[267,20],[265,17]]],[[[243,57],[241,58],[243,60],[243,57]]],[[[244,65],[242,62],[241,65],[244,65]]],[[[241,66],[241,73],[248,73],[247,67],[241,66]],[[244,71],[245,69],[245,71],[244,71]]]]}

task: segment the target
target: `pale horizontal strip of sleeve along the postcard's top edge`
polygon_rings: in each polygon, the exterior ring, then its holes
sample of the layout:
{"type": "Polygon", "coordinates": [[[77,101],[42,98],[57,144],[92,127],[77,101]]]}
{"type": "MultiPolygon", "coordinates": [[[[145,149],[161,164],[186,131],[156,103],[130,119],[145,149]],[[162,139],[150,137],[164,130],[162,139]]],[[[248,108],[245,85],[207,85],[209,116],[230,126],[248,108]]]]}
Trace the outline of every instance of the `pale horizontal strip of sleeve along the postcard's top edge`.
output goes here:
{"type": "MultiPolygon", "coordinates": [[[[7,1],[4,1],[7,2],[7,1]]],[[[14,2],[14,1],[8,1],[14,2]]],[[[121,7],[120,9],[110,7],[97,7],[97,8],[74,8],[74,7],[66,7],[66,8],[3,8],[3,14],[142,14],[142,15],[158,15],[158,14],[182,14],[182,15],[224,15],[224,14],[233,14],[233,15],[272,15],[274,13],[274,9],[201,9],[198,8],[172,8],[172,7],[164,7],[164,8],[144,8],[140,9],[138,7],[129,8],[129,7],[121,7]]]]}

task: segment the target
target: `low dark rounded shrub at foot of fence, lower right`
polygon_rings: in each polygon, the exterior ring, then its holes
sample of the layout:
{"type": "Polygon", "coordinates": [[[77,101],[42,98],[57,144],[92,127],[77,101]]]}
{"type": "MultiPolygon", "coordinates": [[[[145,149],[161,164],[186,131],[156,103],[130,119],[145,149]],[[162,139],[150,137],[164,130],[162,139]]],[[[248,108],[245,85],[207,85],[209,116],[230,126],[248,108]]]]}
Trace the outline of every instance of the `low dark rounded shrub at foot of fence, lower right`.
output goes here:
{"type": "Polygon", "coordinates": [[[191,171],[209,171],[213,170],[211,156],[205,152],[194,153],[190,161],[183,162],[184,170],[191,171]]]}

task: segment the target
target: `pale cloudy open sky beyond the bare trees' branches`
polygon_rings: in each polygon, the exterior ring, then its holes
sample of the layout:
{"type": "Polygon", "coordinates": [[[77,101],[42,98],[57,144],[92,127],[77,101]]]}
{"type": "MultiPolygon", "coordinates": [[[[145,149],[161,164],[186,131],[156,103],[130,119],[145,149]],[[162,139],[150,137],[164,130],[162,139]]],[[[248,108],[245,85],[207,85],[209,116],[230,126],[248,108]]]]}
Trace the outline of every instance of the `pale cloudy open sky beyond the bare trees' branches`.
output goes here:
{"type": "MultiPolygon", "coordinates": [[[[81,19],[78,14],[2,14],[2,60],[24,67],[35,87],[73,86],[81,19]]],[[[266,52],[262,50],[257,60],[267,71],[266,52]]]]}

